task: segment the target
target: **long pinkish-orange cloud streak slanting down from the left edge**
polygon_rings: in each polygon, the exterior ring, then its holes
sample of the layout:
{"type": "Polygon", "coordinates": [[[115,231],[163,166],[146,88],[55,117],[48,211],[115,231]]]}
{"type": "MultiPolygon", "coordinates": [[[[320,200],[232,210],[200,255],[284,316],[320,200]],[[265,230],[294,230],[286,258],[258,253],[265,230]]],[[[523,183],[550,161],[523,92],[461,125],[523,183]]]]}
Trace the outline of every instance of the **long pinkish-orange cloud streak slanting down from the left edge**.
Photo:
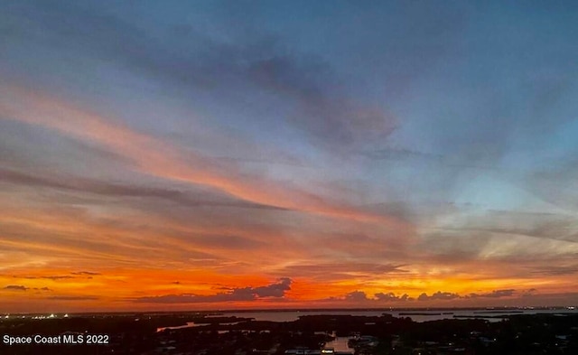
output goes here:
{"type": "Polygon", "coordinates": [[[245,201],[303,212],[367,222],[383,223],[400,232],[411,229],[402,220],[339,206],[308,192],[296,191],[275,182],[242,176],[230,165],[209,158],[182,153],[153,136],[115,125],[96,114],[80,110],[54,98],[16,86],[0,86],[0,113],[3,117],[28,124],[46,126],[82,139],[98,142],[129,157],[144,172],[182,182],[203,184],[245,201]],[[249,183],[248,180],[256,180],[249,183]]]}

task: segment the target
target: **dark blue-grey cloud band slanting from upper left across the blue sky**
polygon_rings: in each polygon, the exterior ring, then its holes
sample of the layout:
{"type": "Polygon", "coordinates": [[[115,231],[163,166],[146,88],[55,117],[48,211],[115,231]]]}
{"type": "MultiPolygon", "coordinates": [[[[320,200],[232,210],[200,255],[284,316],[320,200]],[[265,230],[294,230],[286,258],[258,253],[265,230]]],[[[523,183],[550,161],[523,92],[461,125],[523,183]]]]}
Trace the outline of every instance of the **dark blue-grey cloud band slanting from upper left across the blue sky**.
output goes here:
{"type": "Polygon", "coordinates": [[[331,62],[322,56],[288,51],[283,39],[271,33],[254,38],[237,33],[242,44],[232,44],[216,41],[188,24],[177,25],[177,31],[185,29],[187,40],[174,37],[169,46],[137,24],[107,11],[95,13],[91,7],[12,5],[6,16],[13,21],[23,14],[34,19],[19,33],[29,42],[49,37],[61,44],[61,51],[84,53],[80,55],[83,60],[88,60],[84,57],[89,54],[91,59],[115,62],[168,88],[185,88],[208,100],[228,98],[229,105],[253,113],[246,117],[253,124],[269,126],[258,112],[272,105],[282,107],[284,113],[269,116],[269,120],[304,132],[313,144],[333,150],[379,143],[396,126],[393,115],[377,100],[364,102],[348,92],[337,71],[331,70],[331,62]],[[61,23],[82,31],[69,33],[61,23]],[[110,41],[111,36],[115,41],[110,41]],[[131,50],[123,50],[126,48],[131,50]],[[264,94],[270,99],[259,99],[264,94]],[[258,109],[251,110],[251,106],[258,109]]]}

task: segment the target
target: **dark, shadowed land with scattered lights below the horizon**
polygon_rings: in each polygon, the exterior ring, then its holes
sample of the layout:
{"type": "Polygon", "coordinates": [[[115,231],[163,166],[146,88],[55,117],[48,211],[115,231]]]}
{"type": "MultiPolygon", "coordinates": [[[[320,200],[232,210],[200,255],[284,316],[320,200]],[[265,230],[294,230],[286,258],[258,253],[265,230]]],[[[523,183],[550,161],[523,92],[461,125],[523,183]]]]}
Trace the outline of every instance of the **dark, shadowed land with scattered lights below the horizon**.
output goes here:
{"type": "Polygon", "coordinates": [[[333,336],[349,337],[351,354],[578,354],[576,314],[516,314],[501,322],[412,322],[388,314],[256,322],[207,315],[99,314],[40,320],[13,316],[0,320],[0,354],[322,354],[331,353],[322,349],[333,336]],[[187,322],[196,326],[157,332],[159,327],[187,322]]]}

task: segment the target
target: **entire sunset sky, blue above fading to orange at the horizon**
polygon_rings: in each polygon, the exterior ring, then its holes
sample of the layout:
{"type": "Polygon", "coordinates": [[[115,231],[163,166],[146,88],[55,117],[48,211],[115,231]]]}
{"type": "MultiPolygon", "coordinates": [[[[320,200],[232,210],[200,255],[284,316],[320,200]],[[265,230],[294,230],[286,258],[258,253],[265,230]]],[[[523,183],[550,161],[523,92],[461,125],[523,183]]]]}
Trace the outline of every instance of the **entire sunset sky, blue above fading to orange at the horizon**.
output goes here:
{"type": "Polygon", "coordinates": [[[506,3],[0,0],[0,313],[578,305],[578,6],[506,3]]]}

